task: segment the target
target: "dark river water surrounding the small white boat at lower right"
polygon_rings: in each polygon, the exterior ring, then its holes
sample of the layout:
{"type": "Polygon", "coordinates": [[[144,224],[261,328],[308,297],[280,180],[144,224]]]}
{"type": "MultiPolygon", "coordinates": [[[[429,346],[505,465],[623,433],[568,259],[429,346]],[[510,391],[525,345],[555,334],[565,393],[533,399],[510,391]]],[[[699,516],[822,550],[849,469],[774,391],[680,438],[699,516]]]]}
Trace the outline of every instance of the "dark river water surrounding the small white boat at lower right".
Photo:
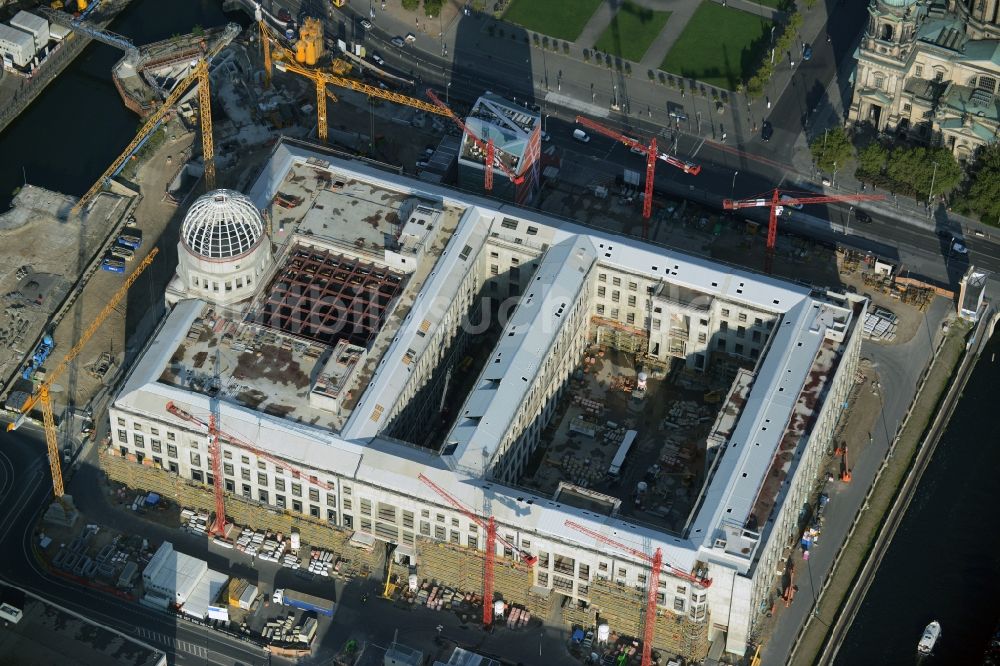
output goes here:
{"type": "Polygon", "coordinates": [[[927,664],[979,664],[1000,617],[1000,334],[986,346],[912,504],[875,574],[837,664],[913,664],[931,620],[927,664]]]}

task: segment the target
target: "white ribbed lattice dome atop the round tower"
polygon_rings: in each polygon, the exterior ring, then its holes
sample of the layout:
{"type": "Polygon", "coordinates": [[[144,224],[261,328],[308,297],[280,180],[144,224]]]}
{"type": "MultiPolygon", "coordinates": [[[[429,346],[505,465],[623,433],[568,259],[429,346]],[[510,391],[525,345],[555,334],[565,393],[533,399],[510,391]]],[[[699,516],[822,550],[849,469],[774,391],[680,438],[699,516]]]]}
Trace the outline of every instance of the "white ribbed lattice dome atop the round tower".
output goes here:
{"type": "Polygon", "coordinates": [[[206,259],[230,259],[246,254],[264,237],[260,212],[245,195],[213,190],[198,197],[181,226],[181,240],[206,259]]]}

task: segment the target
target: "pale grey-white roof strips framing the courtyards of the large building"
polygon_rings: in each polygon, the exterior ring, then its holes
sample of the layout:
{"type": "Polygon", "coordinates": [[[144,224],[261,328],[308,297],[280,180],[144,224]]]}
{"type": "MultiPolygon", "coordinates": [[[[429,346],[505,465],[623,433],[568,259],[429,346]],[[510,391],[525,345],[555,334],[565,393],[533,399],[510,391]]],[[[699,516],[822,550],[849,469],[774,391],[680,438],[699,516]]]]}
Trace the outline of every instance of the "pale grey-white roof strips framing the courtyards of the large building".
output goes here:
{"type": "MultiPolygon", "coordinates": [[[[755,499],[768,473],[771,460],[780,444],[795,409],[799,392],[809,377],[825,331],[831,325],[830,305],[825,299],[811,296],[810,289],[770,276],[725,266],[636,238],[624,238],[608,231],[590,229],[566,220],[529,212],[513,205],[459,193],[445,187],[410,179],[353,159],[339,159],[297,143],[279,143],[272,159],[265,165],[250,191],[258,206],[266,205],[293,163],[313,161],[328,165],[338,173],[362,181],[410,192],[440,201],[446,206],[465,208],[448,245],[438,258],[412,309],[400,325],[397,336],[385,352],[371,383],[358,406],[338,436],[328,430],[303,423],[291,423],[228,403],[222,403],[223,429],[250,442],[266,443],[268,450],[280,457],[300,462],[317,470],[329,470],[417,498],[419,501],[447,506],[444,501],[417,479],[426,474],[448,488],[468,506],[489,503],[496,519],[513,529],[531,530],[549,538],[584,544],[598,550],[603,547],[567,528],[567,518],[583,523],[617,540],[635,543],[637,548],[664,549],[665,561],[690,570],[699,558],[700,549],[711,546],[711,538],[720,525],[731,520],[743,524],[753,509],[755,499]],[[510,218],[521,223],[547,227],[551,234],[548,250],[539,259],[536,278],[544,289],[537,294],[525,291],[514,318],[493,350],[476,389],[463,407],[464,420],[455,426],[448,441],[455,439],[451,456],[417,449],[390,441],[380,432],[388,412],[398,400],[409,376],[408,362],[419,358],[436,330],[440,314],[454,297],[468,271],[474,270],[475,258],[485,247],[489,234],[506,233],[499,220],[510,218]],[[463,255],[466,255],[463,258],[463,255]],[[758,375],[749,391],[747,404],[724,451],[714,476],[705,490],[705,498],[692,521],[689,539],[631,524],[617,518],[597,515],[552,500],[534,496],[496,483],[484,483],[477,470],[492,456],[516,413],[523,389],[530,384],[546,350],[560,325],[555,312],[566,309],[579,297],[585,273],[597,262],[637,275],[661,278],[698,292],[746,304],[781,316],[758,375]],[[425,335],[418,335],[423,331],[425,335]],[[509,333],[513,336],[509,336],[509,333]],[[423,346],[421,346],[423,342],[423,346]],[[499,355],[500,363],[493,361],[499,355]],[[492,366],[497,365],[498,370],[492,366]],[[526,379],[522,380],[521,378],[526,379]],[[478,423],[469,423],[478,419],[478,423]],[[483,456],[483,453],[486,456],[483,456]],[[449,469],[448,459],[455,469],[449,469]],[[746,475],[745,477],[743,475],[746,475]]],[[[146,353],[133,368],[116,404],[151,418],[173,420],[165,412],[166,403],[177,402],[192,413],[207,415],[207,396],[158,383],[178,336],[186,334],[196,317],[199,304],[178,304],[163,324],[146,353]]],[[[853,332],[853,330],[851,331],[853,332]]],[[[178,425],[183,425],[178,423],[178,425]]],[[[766,517],[761,517],[766,518],[766,517]]],[[[748,563],[734,564],[748,567],[748,563]]],[[[744,568],[745,570],[745,568],[744,568]]]]}

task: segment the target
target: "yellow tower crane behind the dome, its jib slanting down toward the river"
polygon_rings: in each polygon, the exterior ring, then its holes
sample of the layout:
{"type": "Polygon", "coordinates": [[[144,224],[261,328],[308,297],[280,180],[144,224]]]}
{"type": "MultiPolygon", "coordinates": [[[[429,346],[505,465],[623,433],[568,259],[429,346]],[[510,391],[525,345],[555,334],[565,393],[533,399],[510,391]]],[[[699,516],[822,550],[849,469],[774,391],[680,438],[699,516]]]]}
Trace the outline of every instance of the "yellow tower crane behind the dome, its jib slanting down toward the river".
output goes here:
{"type": "MultiPolygon", "coordinates": [[[[226,36],[232,32],[239,32],[240,27],[238,24],[230,23],[226,26],[226,36]]],[[[177,84],[174,89],[164,100],[160,108],[154,111],[146,122],[143,124],[142,128],[136,133],[135,138],[125,147],[121,155],[115,158],[115,161],[111,163],[101,177],[97,179],[89,190],[87,190],[80,200],[76,202],[73,206],[72,213],[78,213],[83,210],[90,201],[97,196],[104,186],[111,180],[115,174],[117,174],[125,163],[129,160],[132,155],[134,155],[143,144],[149,140],[152,136],[153,131],[156,130],[164,121],[170,109],[173,107],[177,101],[184,96],[184,93],[197,82],[198,84],[198,104],[199,104],[199,116],[201,117],[201,148],[202,155],[205,162],[205,184],[208,189],[215,188],[215,144],[212,141],[212,110],[211,110],[211,93],[209,90],[209,76],[208,76],[208,64],[211,62],[212,58],[220,51],[222,48],[231,41],[231,37],[227,39],[225,36],[216,42],[207,53],[205,53],[201,58],[198,59],[197,64],[194,69],[187,75],[184,80],[177,84]]]]}

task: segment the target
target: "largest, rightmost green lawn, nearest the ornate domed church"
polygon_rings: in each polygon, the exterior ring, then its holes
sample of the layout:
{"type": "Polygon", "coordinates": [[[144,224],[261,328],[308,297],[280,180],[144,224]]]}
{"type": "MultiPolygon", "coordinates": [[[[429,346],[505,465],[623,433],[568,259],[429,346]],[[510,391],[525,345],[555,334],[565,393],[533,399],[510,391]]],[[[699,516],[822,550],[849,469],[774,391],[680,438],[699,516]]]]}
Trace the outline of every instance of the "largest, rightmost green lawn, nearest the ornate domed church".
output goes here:
{"type": "Polygon", "coordinates": [[[714,2],[702,2],[660,69],[735,90],[767,55],[771,21],[714,2]]]}

